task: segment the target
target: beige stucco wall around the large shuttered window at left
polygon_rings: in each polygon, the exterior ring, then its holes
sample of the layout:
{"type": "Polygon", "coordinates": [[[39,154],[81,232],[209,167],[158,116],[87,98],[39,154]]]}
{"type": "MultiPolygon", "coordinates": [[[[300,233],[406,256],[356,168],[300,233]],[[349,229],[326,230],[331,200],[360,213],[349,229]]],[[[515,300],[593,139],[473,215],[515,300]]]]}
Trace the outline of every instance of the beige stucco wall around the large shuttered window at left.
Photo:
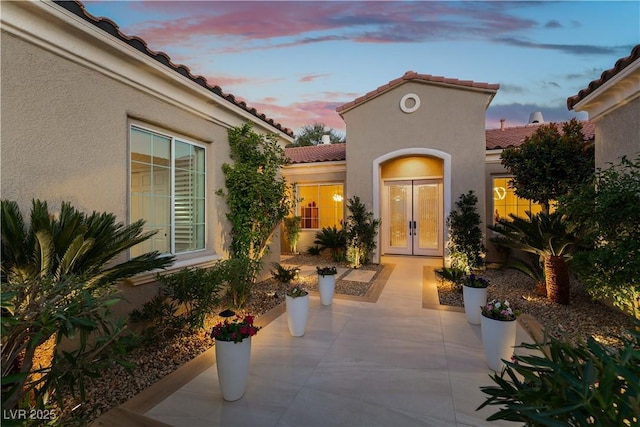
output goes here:
{"type": "Polygon", "coordinates": [[[130,120],[184,135],[207,147],[208,241],[222,252],[226,129],[2,35],[2,197],[26,212],[32,198],[52,209],[69,201],[128,221],[130,120]],[[222,205],[221,203],[222,202],[222,205]]]}

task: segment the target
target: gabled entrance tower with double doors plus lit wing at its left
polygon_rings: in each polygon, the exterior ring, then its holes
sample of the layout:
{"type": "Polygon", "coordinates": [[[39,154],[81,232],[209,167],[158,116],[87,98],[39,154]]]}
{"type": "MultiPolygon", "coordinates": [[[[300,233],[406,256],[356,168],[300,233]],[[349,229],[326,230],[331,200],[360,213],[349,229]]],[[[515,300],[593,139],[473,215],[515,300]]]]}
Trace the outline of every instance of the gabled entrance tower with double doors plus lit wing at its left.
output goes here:
{"type": "Polygon", "coordinates": [[[339,224],[346,201],[358,196],[381,220],[374,262],[381,254],[443,256],[452,203],[470,190],[485,197],[485,112],[498,88],[410,71],[338,107],[347,125],[344,159],[310,168],[311,149],[308,157],[303,148],[287,150],[293,166],[284,174],[303,200],[299,247],[311,246],[334,218],[339,224]]]}

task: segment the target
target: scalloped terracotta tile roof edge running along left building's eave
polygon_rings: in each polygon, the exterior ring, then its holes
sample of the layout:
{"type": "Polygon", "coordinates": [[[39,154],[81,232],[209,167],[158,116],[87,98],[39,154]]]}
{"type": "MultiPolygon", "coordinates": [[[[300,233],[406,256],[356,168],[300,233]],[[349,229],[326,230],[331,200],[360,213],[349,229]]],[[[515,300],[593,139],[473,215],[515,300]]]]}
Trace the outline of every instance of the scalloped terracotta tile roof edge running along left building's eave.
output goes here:
{"type": "Polygon", "coordinates": [[[171,58],[169,57],[169,55],[167,55],[164,52],[155,52],[151,49],[149,49],[149,47],[147,46],[147,43],[142,40],[139,37],[136,36],[128,36],[124,33],[122,33],[118,27],[118,25],[116,25],[113,21],[111,21],[108,18],[97,18],[93,15],[91,15],[89,12],[87,12],[87,10],[85,9],[84,5],[78,1],[78,0],[74,0],[74,1],[59,1],[59,0],[55,0],[54,3],[56,3],[57,5],[65,8],[66,10],[68,10],[69,12],[72,12],[73,14],[77,15],[78,17],[84,19],[85,21],[95,25],[97,28],[100,28],[101,30],[103,30],[104,32],[116,37],[117,39],[127,43],[129,46],[137,49],[138,51],[144,53],[145,55],[155,59],[156,61],[160,62],[161,64],[165,65],[166,67],[169,67],[170,69],[174,70],[176,73],[183,75],[184,77],[188,78],[189,80],[199,84],[200,86],[204,87],[205,89],[210,90],[212,93],[214,93],[215,95],[223,98],[224,100],[230,102],[231,104],[242,108],[243,110],[247,111],[248,113],[250,113],[251,115],[257,117],[258,119],[264,121],[265,123],[271,125],[272,127],[274,127],[275,129],[285,133],[286,135],[289,136],[294,136],[293,135],[293,131],[291,129],[285,128],[282,125],[280,125],[280,123],[276,123],[273,119],[268,118],[267,116],[265,116],[262,113],[259,113],[255,108],[249,107],[244,101],[238,101],[236,100],[235,96],[233,96],[232,94],[227,94],[224,93],[222,91],[222,89],[220,88],[220,86],[214,85],[211,86],[207,80],[202,77],[202,76],[194,76],[193,74],[191,74],[191,70],[189,70],[189,68],[185,65],[176,65],[173,62],[171,62],[171,58]]]}

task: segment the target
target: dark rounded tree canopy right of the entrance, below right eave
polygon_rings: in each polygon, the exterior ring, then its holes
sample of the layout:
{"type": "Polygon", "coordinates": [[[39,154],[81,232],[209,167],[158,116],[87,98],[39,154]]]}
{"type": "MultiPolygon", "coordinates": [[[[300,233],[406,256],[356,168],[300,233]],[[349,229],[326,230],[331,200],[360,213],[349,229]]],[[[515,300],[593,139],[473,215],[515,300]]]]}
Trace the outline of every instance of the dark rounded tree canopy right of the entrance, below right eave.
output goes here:
{"type": "Polygon", "coordinates": [[[555,123],[539,125],[524,143],[507,148],[500,156],[513,174],[511,181],[518,197],[542,205],[549,213],[551,201],[593,176],[593,144],[585,144],[582,124],[565,122],[562,132],[555,123]]]}

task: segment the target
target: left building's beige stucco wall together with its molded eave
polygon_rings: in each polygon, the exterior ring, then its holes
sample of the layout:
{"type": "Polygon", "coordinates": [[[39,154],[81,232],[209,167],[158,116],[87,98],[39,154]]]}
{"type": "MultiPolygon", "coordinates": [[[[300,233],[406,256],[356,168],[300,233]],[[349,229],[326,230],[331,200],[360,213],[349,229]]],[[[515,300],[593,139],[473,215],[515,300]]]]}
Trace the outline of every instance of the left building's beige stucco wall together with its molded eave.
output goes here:
{"type": "MultiPolygon", "coordinates": [[[[41,199],[54,211],[67,201],[129,222],[128,138],[137,124],[206,149],[205,249],[178,255],[175,268],[226,256],[227,208],[215,191],[230,161],[227,129],[275,128],[50,2],[3,2],[0,40],[3,199],[25,215],[41,199]]],[[[134,305],[151,288],[124,285],[134,305]]]]}

